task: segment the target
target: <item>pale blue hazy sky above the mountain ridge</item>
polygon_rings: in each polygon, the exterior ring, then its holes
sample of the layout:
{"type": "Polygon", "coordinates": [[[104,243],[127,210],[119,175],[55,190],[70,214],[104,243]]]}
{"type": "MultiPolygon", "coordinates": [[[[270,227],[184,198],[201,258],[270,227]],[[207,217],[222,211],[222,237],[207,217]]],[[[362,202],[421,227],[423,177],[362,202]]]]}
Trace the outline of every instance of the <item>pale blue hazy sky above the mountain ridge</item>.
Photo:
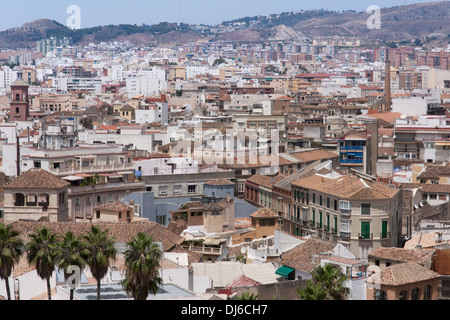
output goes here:
{"type": "Polygon", "coordinates": [[[70,5],[81,9],[81,27],[107,24],[151,25],[163,21],[219,24],[246,16],[300,11],[302,9],[365,11],[370,5],[393,7],[433,2],[405,0],[21,0],[2,5],[0,30],[49,18],[66,24],[70,5]],[[181,4],[181,5],[180,5],[181,4]],[[180,10],[181,7],[181,10],[180,10]],[[181,15],[180,15],[181,12],[181,15]],[[181,17],[181,19],[180,19],[181,17]]]}

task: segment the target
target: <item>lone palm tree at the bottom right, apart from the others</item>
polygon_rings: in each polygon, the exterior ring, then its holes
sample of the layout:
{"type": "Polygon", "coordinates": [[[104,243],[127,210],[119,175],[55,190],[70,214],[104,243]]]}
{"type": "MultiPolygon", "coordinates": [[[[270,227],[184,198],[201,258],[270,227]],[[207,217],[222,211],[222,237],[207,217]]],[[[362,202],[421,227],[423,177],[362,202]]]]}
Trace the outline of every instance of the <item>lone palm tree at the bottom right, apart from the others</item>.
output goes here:
{"type": "Polygon", "coordinates": [[[297,294],[301,300],[345,300],[350,293],[346,281],[338,268],[326,263],[313,271],[306,288],[297,289],[297,294]]]}

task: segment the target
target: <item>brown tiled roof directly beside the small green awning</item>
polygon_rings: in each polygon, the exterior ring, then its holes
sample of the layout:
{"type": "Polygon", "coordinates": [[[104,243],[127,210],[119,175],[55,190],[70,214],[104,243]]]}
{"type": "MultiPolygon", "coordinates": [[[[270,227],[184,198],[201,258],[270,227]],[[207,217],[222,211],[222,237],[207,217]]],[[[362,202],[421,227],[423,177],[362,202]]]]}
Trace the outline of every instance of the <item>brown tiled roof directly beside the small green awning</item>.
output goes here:
{"type": "Polygon", "coordinates": [[[311,238],[295,248],[283,253],[280,263],[300,271],[311,272],[320,261],[314,261],[314,256],[334,250],[336,242],[311,238]]]}

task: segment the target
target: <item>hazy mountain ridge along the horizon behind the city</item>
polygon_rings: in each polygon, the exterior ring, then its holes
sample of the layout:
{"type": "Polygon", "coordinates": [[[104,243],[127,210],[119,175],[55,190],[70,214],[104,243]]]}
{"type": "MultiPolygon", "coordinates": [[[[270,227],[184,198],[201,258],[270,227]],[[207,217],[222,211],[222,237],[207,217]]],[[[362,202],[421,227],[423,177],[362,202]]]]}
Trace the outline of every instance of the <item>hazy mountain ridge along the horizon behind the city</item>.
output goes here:
{"type": "Polygon", "coordinates": [[[224,21],[217,26],[161,22],[155,25],[119,24],[79,30],[71,30],[54,20],[40,19],[1,31],[0,48],[34,47],[37,40],[52,36],[71,37],[75,44],[129,41],[135,45],[197,40],[300,40],[324,36],[356,36],[368,44],[415,39],[431,39],[448,44],[450,39],[450,1],[382,8],[379,30],[368,29],[370,15],[353,10],[304,10],[244,17],[224,21]]]}

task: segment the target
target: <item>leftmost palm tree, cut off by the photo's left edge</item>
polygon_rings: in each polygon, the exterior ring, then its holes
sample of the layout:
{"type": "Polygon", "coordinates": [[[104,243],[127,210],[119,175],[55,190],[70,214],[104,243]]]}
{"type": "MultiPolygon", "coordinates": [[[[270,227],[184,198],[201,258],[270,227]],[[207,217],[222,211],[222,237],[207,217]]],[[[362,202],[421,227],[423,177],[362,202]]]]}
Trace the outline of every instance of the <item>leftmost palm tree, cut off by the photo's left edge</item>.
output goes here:
{"type": "Polygon", "coordinates": [[[12,274],[14,264],[19,263],[24,253],[23,241],[19,238],[19,232],[12,226],[0,223],[0,279],[5,280],[8,300],[11,300],[8,278],[12,274]]]}

